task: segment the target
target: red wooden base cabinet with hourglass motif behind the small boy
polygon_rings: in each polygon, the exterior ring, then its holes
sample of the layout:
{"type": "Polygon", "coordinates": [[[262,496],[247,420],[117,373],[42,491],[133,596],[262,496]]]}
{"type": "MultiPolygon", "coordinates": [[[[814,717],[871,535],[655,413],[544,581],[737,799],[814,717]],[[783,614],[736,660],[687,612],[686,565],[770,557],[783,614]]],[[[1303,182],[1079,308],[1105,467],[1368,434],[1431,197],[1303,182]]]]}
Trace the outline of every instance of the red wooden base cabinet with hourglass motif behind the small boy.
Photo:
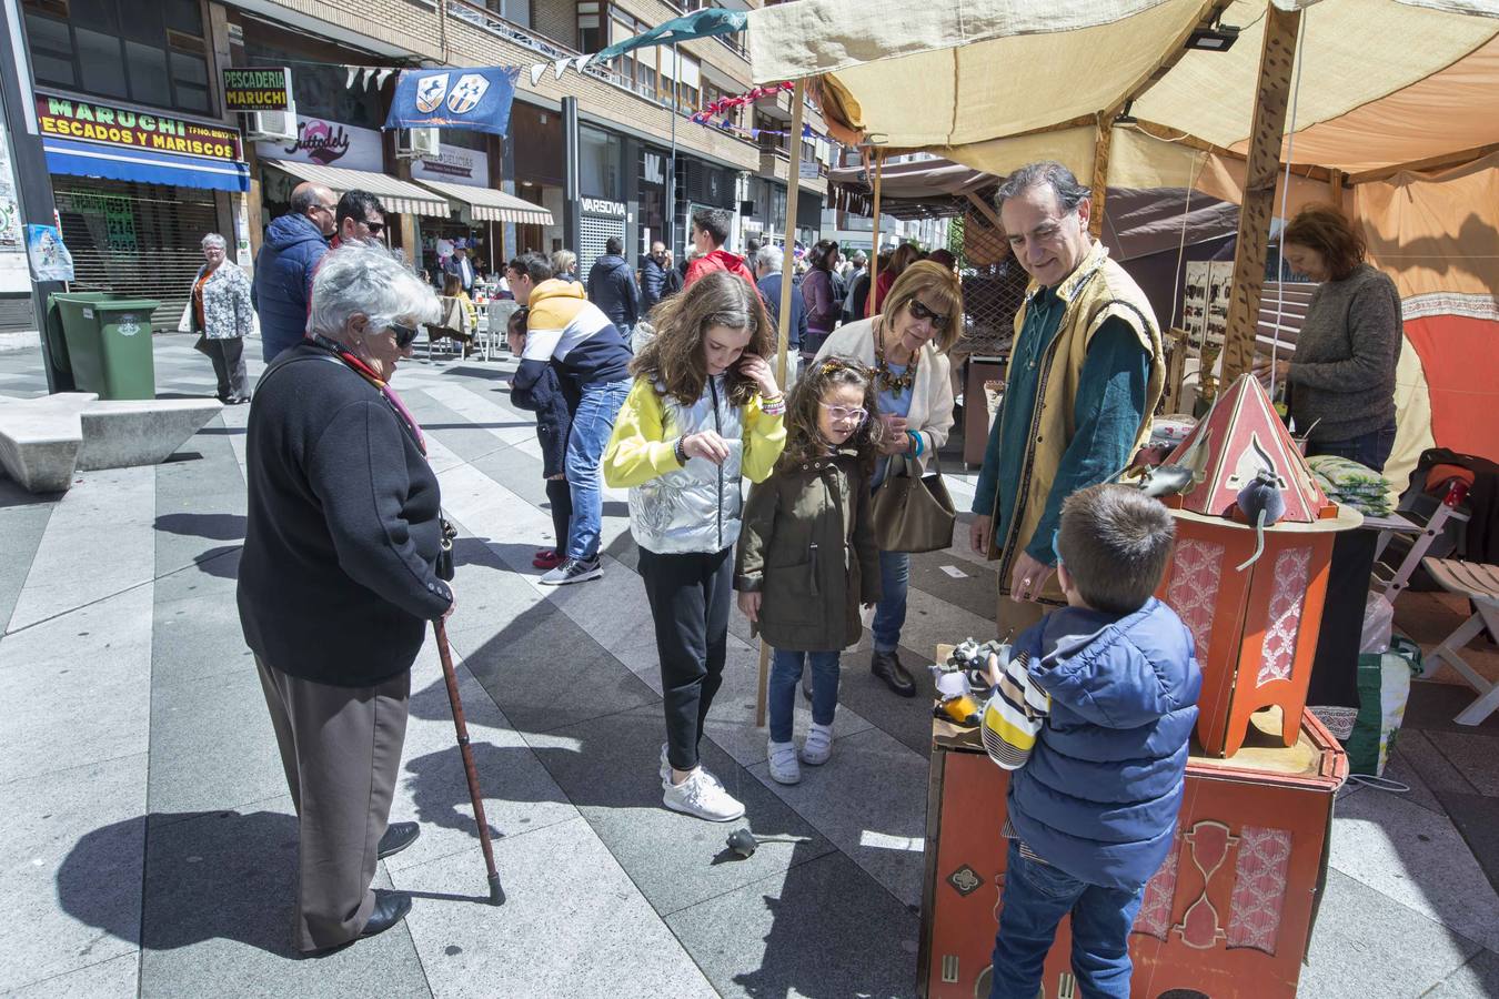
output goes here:
{"type": "MultiPolygon", "coordinates": [[[[1139,999],[1295,996],[1348,758],[1310,713],[1294,746],[1280,744],[1280,731],[1271,708],[1228,759],[1193,746],[1177,842],[1145,888],[1130,936],[1139,999]]],[[[977,732],[932,723],[922,996],[989,995],[1007,785],[977,732]]],[[[1069,951],[1063,920],[1042,978],[1046,999],[1078,995],[1069,951]]]]}

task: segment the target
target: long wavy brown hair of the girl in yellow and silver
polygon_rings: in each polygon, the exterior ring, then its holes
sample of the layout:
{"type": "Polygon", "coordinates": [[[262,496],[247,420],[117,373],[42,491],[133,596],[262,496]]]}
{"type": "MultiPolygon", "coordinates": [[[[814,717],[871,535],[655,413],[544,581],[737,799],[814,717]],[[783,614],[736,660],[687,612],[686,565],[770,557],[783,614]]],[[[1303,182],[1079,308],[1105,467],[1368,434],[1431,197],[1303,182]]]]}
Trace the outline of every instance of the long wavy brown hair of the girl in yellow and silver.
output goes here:
{"type": "MultiPolygon", "coordinates": [[[[630,373],[664,385],[666,394],[684,406],[696,403],[708,389],[703,337],[711,327],[750,330],[745,355],[769,359],[775,352],[770,318],[760,301],[760,292],[729,271],[705,274],[687,291],[657,306],[651,319],[655,322],[655,337],[631,361],[630,373]]],[[[730,367],[724,377],[726,394],[735,406],[748,404],[758,391],[738,365],[730,367]]]]}

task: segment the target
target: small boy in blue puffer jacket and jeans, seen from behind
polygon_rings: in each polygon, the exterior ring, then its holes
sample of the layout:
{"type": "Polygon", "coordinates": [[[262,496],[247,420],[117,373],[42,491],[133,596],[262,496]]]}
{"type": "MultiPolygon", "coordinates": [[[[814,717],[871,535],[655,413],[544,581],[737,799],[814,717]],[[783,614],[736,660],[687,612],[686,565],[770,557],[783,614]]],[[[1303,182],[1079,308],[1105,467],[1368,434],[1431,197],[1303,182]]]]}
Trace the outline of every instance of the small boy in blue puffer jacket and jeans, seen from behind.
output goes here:
{"type": "Polygon", "coordinates": [[[983,744],[1013,770],[991,999],[1033,999],[1072,914],[1084,996],[1130,992],[1129,932],[1166,858],[1198,720],[1192,634],[1151,596],[1171,556],[1160,502],[1124,485],[1072,494],[1057,532],[1067,607],[989,659],[983,744]]]}

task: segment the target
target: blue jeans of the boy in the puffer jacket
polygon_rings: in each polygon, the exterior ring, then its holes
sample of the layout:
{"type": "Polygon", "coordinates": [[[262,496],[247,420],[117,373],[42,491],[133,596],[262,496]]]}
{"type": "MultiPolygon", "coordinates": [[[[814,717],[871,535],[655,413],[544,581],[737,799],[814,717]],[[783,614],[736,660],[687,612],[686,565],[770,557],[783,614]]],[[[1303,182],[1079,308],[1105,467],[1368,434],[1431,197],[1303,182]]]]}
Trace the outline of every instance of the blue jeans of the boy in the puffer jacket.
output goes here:
{"type": "MultiPolygon", "coordinates": [[[[1072,914],[1072,974],[1078,995],[1129,999],[1129,930],[1145,888],[1123,891],[1078,881],[1021,857],[1010,840],[989,999],[1036,999],[1061,917],[1072,914]]],[[[1048,989],[1046,995],[1055,995],[1048,989]]]]}

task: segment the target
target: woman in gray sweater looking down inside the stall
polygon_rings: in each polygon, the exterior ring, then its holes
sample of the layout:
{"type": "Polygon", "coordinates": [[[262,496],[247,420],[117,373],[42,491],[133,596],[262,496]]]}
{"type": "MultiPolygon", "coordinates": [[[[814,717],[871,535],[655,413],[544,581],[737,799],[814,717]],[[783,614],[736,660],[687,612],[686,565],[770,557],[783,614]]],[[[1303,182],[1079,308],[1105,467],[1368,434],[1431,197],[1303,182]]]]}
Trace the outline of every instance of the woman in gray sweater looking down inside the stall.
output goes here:
{"type": "MultiPolygon", "coordinates": [[[[1333,205],[1297,213],[1282,252],[1292,268],[1321,282],[1295,359],[1274,362],[1297,430],[1312,431],[1307,454],[1337,454],[1384,472],[1396,442],[1400,292],[1364,262],[1364,235],[1333,205]]],[[[1256,373],[1268,377],[1270,361],[1256,373]]]]}

